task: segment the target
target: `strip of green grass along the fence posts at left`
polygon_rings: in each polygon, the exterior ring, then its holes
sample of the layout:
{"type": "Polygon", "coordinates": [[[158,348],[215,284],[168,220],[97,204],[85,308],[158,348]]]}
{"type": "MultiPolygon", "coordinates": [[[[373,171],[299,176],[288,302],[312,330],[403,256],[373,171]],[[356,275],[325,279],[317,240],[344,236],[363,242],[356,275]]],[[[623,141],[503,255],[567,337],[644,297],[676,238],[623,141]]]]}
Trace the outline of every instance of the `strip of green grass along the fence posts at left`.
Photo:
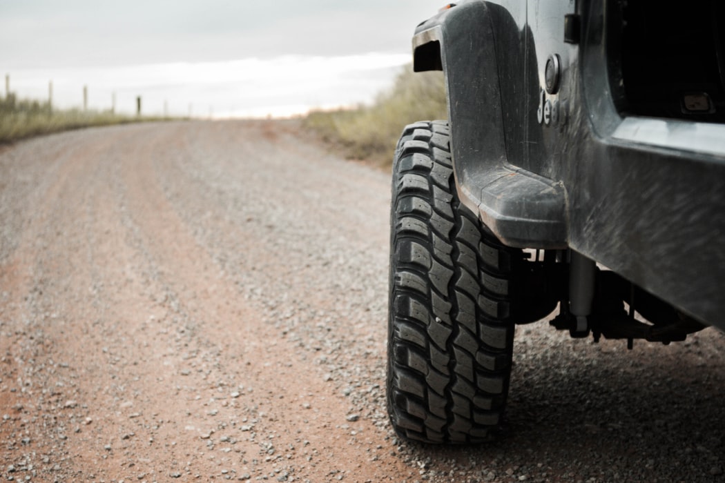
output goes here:
{"type": "Polygon", "coordinates": [[[158,118],[124,116],[109,111],[51,109],[47,102],[19,100],[10,93],[0,99],[0,144],[83,127],[156,119],[158,118]]]}

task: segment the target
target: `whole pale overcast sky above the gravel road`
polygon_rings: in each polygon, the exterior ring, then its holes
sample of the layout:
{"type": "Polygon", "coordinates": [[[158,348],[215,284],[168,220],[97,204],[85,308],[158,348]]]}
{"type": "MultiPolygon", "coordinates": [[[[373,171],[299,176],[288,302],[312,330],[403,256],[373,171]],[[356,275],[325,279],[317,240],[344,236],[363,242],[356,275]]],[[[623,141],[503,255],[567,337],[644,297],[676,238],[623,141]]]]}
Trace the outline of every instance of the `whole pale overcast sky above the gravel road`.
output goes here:
{"type": "Polygon", "coordinates": [[[47,97],[52,80],[60,105],[77,101],[81,86],[73,83],[88,84],[89,97],[99,104],[110,102],[111,91],[122,104],[124,96],[138,93],[154,109],[165,102],[175,112],[191,104],[197,111],[242,114],[266,105],[277,112],[271,104],[350,104],[369,101],[397,66],[410,61],[415,25],[443,5],[0,0],[0,69],[21,96],[47,97]],[[235,88],[241,84],[260,91],[244,94],[235,88]]]}

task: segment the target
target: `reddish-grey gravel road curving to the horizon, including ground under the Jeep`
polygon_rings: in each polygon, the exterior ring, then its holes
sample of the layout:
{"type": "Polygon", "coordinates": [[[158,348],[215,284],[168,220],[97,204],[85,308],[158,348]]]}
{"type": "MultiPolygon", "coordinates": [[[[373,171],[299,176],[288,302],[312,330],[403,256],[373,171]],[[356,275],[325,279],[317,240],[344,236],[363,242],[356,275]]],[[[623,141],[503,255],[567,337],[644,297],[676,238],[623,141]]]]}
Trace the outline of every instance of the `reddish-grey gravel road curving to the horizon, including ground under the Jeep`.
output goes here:
{"type": "Polygon", "coordinates": [[[725,336],[518,327],[508,436],[397,440],[389,175],[296,122],[0,148],[0,478],[725,482],[725,336]]]}

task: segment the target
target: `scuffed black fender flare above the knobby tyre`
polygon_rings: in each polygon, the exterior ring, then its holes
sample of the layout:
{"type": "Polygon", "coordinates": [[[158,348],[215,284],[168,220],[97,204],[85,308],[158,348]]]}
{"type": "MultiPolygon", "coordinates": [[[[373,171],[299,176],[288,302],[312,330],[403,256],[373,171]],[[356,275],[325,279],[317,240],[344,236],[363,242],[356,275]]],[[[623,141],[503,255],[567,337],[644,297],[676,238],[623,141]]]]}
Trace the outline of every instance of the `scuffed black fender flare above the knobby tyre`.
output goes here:
{"type": "MultiPolygon", "coordinates": [[[[517,167],[517,160],[510,159],[518,154],[516,146],[507,146],[505,116],[516,117],[512,122],[521,125],[529,122],[523,109],[510,112],[515,100],[507,98],[517,89],[525,93],[526,67],[523,62],[507,65],[521,72],[502,76],[496,43],[520,49],[520,35],[526,34],[518,31],[506,9],[489,1],[463,1],[418,25],[413,68],[444,71],[461,201],[505,245],[566,248],[566,190],[559,182],[517,167]],[[506,35],[515,36],[515,42],[507,43],[506,35]]],[[[526,140],[516,142],[523,146],[526,140]]]]}

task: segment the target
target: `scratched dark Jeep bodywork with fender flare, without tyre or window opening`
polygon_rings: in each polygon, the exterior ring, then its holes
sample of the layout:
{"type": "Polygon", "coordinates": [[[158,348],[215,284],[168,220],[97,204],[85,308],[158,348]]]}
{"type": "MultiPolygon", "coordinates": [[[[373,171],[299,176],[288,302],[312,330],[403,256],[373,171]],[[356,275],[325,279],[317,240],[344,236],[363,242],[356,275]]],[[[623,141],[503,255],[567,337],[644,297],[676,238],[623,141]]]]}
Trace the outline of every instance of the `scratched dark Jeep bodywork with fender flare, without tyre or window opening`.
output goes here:
{"type": "Polygon", "coordinates": [[[446,75],[461,197],[503,243],[571,248],[725,329],[725,125],[619,114],[613,3],[579,3],[463,1],[419,25],[414,47],[437,42],[446,75]]]}

